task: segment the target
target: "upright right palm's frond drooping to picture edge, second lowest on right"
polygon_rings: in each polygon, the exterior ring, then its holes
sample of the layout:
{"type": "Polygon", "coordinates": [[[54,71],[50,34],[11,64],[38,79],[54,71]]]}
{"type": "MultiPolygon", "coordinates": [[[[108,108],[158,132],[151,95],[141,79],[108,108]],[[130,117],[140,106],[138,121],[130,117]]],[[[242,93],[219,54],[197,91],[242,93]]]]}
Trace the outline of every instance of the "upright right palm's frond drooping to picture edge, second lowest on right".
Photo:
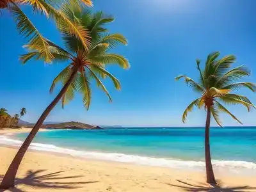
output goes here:
{"type": "Polygon", "coordinates": [[[222,100],[226,104],[241,104],[245,106],[248,111],[250,111],[251,108],[255,108],[252,102],[243,95],[227,94],[225,95],[225,97],[219,97],[218,99],[222,100]]]}

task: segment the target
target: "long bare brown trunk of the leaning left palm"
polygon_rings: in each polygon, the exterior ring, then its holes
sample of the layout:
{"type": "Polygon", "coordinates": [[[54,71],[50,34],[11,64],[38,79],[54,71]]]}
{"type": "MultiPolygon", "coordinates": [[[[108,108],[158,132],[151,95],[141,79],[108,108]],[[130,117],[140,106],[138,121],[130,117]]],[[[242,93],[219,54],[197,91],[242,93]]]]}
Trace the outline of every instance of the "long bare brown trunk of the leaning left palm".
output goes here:
{"type": "Polygon", "coordinates": [[[19,148],[19,151],[17,152],[16,156],[14,157],[12,163],[10,164],[6,174],[4,175],[3,181],[0,185],[0,189],[8,189],[13,188],[15,184],[15,177],[16,173],[18,171],[19,165],[22,161],[22,158],[24,157],[26,151],[28,150],[28,147],[30,143],[35,138],[36,133],[39,131],[41,125],[44,123],[45,118],[49,115],[49,113],[52,111],[52,109],[56,106],[56,104],[59,102],[61,97],[67,92],[68,86],[72,83],[74,77],[76,76],[77,68],[74,68],[72,74],[70,75],[67,83],[63,86],[60,93],[55,97],[55,99],[49,104],[49,106],[45,109],[44,113],[40,116],[38,121],[36,122],[35,126],[29,133],[28,137],[24,141],[24,143],[19,148]]]}

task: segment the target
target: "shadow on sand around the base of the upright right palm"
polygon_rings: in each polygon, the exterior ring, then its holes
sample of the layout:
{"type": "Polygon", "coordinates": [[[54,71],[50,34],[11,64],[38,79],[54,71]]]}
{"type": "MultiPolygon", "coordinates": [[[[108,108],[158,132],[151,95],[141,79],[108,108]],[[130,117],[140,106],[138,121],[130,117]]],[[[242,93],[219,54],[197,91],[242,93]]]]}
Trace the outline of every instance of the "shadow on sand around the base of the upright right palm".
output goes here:
{"type": "MultiPolygon", "coordinates": [[[[209,186],[206,186],[204,183],[198,182],[198,184],[189,184],[188,182],[183,182],[182,180],[177,180],[178,182],[182,183],[183,185],[174,185],[174,184],[168,184],[169,186],[174,186],[177,188],[181,188],[184,191],[189,192],[252,192],[256,188],[252,188],[250,186],[222,186],[220,180],[218,180],[218,185],[209,184],[209,186]],[[253,190],[254,189],[254,190],[253,190]]],[[[255,190],[256,191],[256,190],[255,190]]]]}

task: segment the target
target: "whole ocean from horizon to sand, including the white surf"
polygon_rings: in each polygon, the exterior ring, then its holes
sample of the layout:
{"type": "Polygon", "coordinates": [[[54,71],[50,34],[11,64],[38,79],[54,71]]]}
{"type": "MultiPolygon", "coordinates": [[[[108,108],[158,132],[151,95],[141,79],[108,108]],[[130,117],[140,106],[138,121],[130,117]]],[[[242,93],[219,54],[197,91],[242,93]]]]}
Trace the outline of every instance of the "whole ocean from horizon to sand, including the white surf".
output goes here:
{"type": "MultiPolygon", "coordinates": [[[[0,136],[20,145],[28,133],[0,136]]],[[[204,170],[204,128],[143,127],[38,132],[31,147],[89,159],[204,170]]],[[[256,127],[211,128],[214,170],[256,175],[256,127]]]]}

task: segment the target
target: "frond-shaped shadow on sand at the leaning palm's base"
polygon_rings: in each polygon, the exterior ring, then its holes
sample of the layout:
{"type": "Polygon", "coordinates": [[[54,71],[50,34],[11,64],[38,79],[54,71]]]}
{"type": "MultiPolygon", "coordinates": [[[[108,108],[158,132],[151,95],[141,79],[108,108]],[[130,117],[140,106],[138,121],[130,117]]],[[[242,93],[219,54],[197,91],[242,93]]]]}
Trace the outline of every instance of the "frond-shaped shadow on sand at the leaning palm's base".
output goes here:
{"type": "MultiPolygon", "coordinates": [[[[69,176],[69,177],[61,177],[61,172],[54,172],[42,175],[46,170],[28,170],[26,176],[24,178],[15,179],[15,188],[8,189],[12,192],[26,192],[22,190],[22,186],[29,186],[33,189],[36,188],[59,188],[59,189],[76,189],[81,188],[81,184],[91,184],[99,181],[87,181],[87,182],[65,182],[63,179],[77,179],[83,176],[69,176]],[[54,180],[54,181],[51,181],[54,180]],[[58,182],[56,182],[58,180],[58,182]],[[60,180],[60,181],[59,181],[60,180]]],[[[3,180],[3,175],[0,175],[0,182],[3,180]]],[[[4,191],[0,189],[0,191],[4,191]]]]}

